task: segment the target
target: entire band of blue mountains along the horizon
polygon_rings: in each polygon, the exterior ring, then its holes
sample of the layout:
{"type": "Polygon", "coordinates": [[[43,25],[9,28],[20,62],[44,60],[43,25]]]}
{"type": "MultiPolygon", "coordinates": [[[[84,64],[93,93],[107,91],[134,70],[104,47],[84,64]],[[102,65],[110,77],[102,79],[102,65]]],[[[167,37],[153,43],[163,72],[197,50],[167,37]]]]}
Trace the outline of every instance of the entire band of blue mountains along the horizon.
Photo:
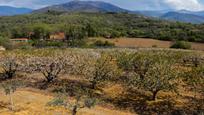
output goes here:
{"type": "Polygon", "coordinates": [[[130,11],[120,8],[110,3],[101,1],[71,1],[64,4],[48,6],[45,8],[32,10],[27,8],[15,8],[8,6],[0,6],[1,16],[11,16],[27,13],[45,13],[48,11],[57,12],[93,12],[93,13],[105,13],[105,12],[126,12],[131,14],[141,14],[148,17],[154,17],[159,19],[165,19],[170,21],[180,21],[193,24],[204,23],[204,11],[194,12],[187,10],[161,10],[161,11],[130,11]]]}

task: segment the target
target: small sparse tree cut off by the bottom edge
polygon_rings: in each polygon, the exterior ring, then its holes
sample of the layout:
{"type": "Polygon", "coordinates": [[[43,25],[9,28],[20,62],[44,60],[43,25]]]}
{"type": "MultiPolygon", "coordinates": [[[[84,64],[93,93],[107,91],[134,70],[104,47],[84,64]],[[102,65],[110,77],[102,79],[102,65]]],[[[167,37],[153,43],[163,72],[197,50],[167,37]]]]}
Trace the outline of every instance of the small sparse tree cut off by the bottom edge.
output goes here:
{"type": "Polygon", "coordinates": [[[64,108],[69,109],[72,112],[72,115],[76,115],[77,112],[82,108],[89,108],[95,106],[96,99],[92,97],[92,92],[85,87],[73,87],[75,90],[74,95],[69,94],[65,85],[60,91],[57,92],[56,97],[47,103],[48,106],[64,106],[64,108]],[[83,96],[84,94],[87,96],[83,96]],[[73,97],[74,96],[74,97],[73,97]]]}

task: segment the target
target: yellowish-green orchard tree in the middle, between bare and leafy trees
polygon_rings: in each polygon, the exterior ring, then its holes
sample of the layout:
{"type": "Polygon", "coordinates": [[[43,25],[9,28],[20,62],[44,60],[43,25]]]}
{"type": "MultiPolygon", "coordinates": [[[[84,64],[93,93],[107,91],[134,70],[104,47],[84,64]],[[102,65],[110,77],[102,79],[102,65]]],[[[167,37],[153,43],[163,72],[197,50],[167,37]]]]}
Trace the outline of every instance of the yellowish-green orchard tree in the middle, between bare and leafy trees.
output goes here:
{"type": "Polygon", "coordinates": [[[89,70],[84,75],[90,81],[92,89],[96,89],[98,84],[117,79],[121,74],[117,62],[109,54],[102,53],[98,59],[90,61],[92,63],[88,65],[89,70]]]}

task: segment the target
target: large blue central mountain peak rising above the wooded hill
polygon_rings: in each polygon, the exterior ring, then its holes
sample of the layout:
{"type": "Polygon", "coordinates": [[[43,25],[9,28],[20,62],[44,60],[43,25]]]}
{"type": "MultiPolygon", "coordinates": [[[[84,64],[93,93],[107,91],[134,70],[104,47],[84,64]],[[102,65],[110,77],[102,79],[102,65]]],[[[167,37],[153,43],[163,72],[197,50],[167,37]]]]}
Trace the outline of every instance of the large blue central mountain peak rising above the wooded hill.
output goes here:
{"type": "Polygon", "coordinates": [[[45,7],[37,12],[60,11],[60,12],[128,12],[115,5],[100,1],[71,1],[65,4],[45,7]]]}

